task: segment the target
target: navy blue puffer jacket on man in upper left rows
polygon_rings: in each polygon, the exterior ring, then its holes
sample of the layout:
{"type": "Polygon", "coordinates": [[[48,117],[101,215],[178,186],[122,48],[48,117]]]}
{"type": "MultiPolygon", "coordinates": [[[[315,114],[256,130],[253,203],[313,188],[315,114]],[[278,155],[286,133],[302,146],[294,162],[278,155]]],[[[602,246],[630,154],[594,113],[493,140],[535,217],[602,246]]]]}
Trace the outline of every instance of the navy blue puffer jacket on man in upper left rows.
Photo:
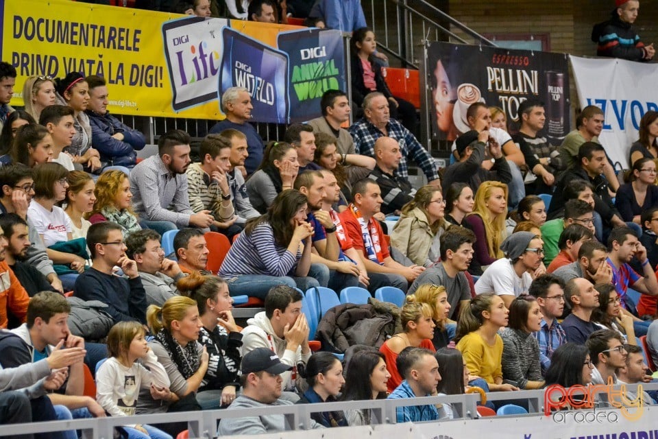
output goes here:
{"type": "Polygon", "coordinates": [[[103,165],[134,167],[137,160],[135,151],[141,150],[146,145],[144,134],[125,125],[110,115],[110,112],[99,115],[97,112],[86,110],[86,114],[91,124],[91,143],[101,154],[103,165]],[[123,134],[123,141],[112,137],[117,132],[123,134]]]}

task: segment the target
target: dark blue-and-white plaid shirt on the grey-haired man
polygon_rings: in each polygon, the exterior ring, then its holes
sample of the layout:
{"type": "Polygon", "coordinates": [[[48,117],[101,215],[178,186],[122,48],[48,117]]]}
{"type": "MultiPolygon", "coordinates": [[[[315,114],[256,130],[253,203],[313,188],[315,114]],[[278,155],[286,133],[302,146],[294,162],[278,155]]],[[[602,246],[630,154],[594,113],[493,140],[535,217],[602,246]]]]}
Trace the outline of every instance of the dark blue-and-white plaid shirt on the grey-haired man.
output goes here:
{"type": "MultiPolygon", "coordinates": [[[[402,160],[400,165],[395,171],[395,176],[402,177],[405,180],[409,179],[409,167],[406,165],[407,159],[413,159],[415,163],[423,169],[423,173],[428,181],[437,180],[439,178],[439,169],[437,163],[430,156],[430,153],[421,145],[411,131],[402,126],[402,123],[395,119],[389,120],[386,129],[389,137],[395,139],[400,144],[400,152],[402,153],[402,160]]],[[[363,118],[350,126],[350,134],[354,139],[354,146],[356,147],[356,154],[364,156],[375,156],[375,141],[384,136],[384,133],[376,126],[370,123],[367,119],[363,118]]]]}

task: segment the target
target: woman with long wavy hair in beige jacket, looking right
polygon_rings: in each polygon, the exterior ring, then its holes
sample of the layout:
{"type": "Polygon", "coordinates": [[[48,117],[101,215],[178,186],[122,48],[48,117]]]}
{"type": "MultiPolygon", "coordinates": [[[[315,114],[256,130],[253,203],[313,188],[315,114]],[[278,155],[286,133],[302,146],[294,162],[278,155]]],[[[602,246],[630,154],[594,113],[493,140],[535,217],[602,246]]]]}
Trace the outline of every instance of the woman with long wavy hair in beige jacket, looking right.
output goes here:
{"type": "Polygon", "coordinates": [[[395,223],[391,246],[415,263],[429,267],[439,259],[439,237],[449,225],[443,219],[446,202],[441,189],[424,186],[413,200],[402,207],[402,216],[395,223]]]}

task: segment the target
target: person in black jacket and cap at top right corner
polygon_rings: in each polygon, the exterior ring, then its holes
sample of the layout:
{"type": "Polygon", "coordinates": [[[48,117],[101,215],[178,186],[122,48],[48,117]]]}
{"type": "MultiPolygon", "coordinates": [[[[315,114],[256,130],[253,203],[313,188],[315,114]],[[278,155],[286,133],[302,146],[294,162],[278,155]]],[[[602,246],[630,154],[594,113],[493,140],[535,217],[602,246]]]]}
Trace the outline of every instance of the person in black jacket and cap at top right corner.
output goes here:
{"type": "Polygon", "coordinates": [[[638,0],[616,0],[611,18],[594,25],[592,41],[598,43],[596,56],[649,62],[656,51],[653,43],[644,45],[633,28],[639,12],[638,0]]]}

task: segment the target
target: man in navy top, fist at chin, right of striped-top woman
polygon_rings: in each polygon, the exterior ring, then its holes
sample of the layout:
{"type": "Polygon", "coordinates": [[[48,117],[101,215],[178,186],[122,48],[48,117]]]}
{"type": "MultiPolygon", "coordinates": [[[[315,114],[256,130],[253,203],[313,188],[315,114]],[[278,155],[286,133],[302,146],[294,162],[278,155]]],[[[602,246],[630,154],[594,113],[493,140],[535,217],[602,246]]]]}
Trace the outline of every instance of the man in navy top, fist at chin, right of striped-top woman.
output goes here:
{"type": "Polygon", "coordinates": [[[311,263],[326,266],[329,278],[328,287],[340,291],[345,287],[358,285],[359,270],[356,264],[344,258],[341,245],[336,236],[337,226],[328,211],[322,210],[327,198],[326,181],[320,171],[304,171],[295,178],[295,189],[306,195],[308,202],[308,223],[313,226],[313,247],[311,263]]]}

